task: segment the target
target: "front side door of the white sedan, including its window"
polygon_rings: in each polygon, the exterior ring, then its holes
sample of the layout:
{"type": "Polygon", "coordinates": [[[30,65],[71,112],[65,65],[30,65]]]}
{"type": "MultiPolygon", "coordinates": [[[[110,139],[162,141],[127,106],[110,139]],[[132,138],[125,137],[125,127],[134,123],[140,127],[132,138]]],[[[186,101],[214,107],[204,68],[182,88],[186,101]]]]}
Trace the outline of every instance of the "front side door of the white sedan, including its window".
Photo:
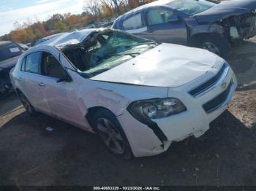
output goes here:
{"type": "Polygon", "coordinates": [[[50,52],[42,52],[42,92],[53,117],[84,126],[85,117],[79,109],[78,90],[67,71],[50,52]]]}

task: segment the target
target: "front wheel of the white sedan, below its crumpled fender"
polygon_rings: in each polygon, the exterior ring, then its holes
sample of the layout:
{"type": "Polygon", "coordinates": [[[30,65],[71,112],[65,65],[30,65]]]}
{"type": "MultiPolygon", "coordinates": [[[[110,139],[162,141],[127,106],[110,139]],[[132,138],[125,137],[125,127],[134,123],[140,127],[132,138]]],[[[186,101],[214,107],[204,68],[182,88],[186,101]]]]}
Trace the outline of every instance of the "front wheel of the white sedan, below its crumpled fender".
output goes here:
{"type": "Polygon", "coordinates": [[[93,117],[93,127],[111,154],[125,160],[133,157],[127,136],[112,112],[98,110],[93,117]]]}

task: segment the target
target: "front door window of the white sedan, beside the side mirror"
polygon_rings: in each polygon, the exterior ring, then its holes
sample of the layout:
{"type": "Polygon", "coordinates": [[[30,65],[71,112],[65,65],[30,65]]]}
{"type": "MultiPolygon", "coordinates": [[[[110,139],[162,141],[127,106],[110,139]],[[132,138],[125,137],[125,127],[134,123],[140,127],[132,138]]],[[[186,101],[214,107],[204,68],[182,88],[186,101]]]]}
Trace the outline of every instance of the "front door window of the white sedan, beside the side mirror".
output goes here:
{"type": "Polygon", "coordinates": [[[42,52],[42,75],[62,79],[67,73],[57,59],[48,52],[42,52]]]}

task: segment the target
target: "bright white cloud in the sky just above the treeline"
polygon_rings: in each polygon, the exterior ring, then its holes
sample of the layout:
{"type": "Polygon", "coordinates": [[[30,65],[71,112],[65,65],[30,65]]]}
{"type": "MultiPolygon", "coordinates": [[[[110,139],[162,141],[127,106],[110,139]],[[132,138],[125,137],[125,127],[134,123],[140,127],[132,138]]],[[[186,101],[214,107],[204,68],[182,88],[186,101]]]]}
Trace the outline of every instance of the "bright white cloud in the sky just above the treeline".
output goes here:
{"type": "Polygon", "coordinates": [[[37,20],[47,20],[50,15],[67,12],[80,13],[83,12],[84,0],[56,0],[45,3],[37,4],[31,7],[22,9],[12,9],[0,12],[0,36],[9,33],[13,29],[13,23],[18,21],[23,23],[28,19],[36,18],[37,20]]]}

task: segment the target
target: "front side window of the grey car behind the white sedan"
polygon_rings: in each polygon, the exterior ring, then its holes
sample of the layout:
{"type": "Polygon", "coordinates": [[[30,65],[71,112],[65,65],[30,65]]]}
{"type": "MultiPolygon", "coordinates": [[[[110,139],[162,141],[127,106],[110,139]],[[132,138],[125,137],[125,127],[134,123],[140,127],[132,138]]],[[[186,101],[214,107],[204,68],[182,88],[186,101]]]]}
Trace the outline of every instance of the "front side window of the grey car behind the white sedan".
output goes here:
{"type": "Polygon", "coordinates": [[[167,9],[149,9],[146,13],[146,20],[148,26],[154,26],[168,23],[171,16],[173,16],[173,12],[167,9]]]}

